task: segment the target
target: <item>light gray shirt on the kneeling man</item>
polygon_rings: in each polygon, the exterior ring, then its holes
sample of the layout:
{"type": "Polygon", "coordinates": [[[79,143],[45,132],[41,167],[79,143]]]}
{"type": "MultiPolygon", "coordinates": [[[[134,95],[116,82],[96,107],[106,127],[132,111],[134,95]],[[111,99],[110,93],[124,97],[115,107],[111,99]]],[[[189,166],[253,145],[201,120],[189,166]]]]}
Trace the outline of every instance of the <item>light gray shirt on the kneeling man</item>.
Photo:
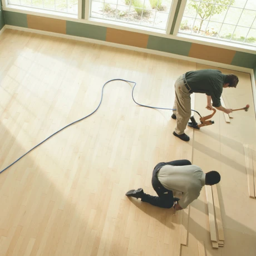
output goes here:
{"type": "Polygon", "coordinates": [[[198,198],[205,185],[205,173],[197,165],[164,165],[157,176],[166,189],[184,193],[179,200],[183,209],[198,198]]]}

